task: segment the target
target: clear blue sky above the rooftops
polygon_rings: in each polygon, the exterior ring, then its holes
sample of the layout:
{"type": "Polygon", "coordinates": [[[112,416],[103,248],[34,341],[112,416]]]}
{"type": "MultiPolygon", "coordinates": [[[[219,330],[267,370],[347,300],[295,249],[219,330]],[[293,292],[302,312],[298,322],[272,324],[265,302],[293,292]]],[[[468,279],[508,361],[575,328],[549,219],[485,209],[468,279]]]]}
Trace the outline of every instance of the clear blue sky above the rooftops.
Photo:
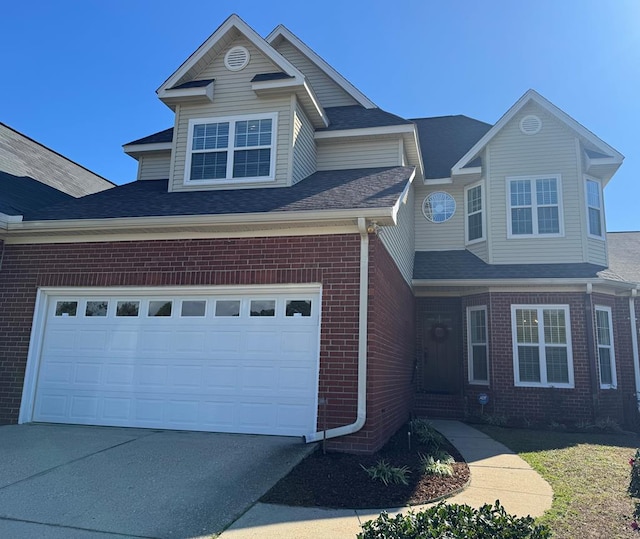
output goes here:
{"type": "Polygon", "coordinates": [[[155,90],[229,16],[282,23],[378,106],[489,123],[529,88],[626,156],[609,230],[640,230],[640,0],[23,0],[0,7],[0,121],[116,183],[172,125],[155,90]]]}

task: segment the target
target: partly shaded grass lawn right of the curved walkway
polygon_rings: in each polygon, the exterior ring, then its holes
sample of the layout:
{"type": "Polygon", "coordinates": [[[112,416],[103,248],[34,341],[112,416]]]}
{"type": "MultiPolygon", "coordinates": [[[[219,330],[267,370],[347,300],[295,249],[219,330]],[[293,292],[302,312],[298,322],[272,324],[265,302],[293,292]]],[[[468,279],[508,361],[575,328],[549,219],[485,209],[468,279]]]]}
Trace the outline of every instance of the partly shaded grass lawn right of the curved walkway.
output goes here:
{"type": "Polygon", "coordinates": [[[518,453],[553,488],[540,519],[554,538],[635,537],[629,524],[629,459],[640,446],[632,434],[585,434],[479,426],[518,453]]]}

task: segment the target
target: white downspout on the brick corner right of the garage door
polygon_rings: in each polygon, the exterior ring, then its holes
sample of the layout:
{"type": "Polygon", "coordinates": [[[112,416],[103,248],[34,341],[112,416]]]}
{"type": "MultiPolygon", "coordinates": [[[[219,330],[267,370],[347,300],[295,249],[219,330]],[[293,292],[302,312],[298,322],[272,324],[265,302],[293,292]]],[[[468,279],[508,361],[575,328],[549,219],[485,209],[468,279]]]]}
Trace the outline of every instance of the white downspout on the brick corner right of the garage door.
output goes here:
{"type": "Polygon", "coordinates": [[[369,307],[369,232],[364,217],[358,217],[360,231],[360,318],[358,320],[358,411],[355,422],[305,436],[305,442],[337,438],[358,432],[367,420],[367,310],[369,307]]]}

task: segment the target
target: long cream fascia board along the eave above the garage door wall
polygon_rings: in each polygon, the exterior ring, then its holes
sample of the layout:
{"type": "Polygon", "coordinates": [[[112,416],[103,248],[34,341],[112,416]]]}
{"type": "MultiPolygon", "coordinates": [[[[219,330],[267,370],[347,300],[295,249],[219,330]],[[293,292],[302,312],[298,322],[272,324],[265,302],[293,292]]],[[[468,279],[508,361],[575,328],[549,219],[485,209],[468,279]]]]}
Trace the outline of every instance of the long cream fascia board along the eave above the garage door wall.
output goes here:
{"type": "Polygon", "coordinates": [[[227,215],[179,215],[160,217],[118,217],[113,219],[66,219],[56,221],[26,221],[9,223],[10,232],[64,232],[87,231],[106,228],[120,230],[171,228],[184,226],[233,225],[233,224],[287,224],[296,222],[326,222],[338,219],[378,219],[393,224],[393,207],[353,210],[321,210],[272,213],[239,213],[227,215]]]}

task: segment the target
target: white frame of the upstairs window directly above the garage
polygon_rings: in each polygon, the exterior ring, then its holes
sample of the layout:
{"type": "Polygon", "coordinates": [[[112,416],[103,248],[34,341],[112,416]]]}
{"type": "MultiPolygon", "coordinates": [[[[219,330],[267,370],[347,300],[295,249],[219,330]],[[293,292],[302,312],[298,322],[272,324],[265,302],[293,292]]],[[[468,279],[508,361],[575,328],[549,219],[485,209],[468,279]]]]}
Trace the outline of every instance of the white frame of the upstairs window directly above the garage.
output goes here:
{"type": "MultiPolygon", "coordinates": [[[[216,185],[216,184],[238,184],[238,183],[255,183],[255,182],[268,182],[275,179],[276,171],[276,145],[277,145],[277,132],[278,132],[278,113],[262,113],[262,114],[244,114],[242,116],[214,116],[210,118],[191,118],[189,120],[189,127],[187,131],[187,154],[184,162],[184,184],[185,185],[216,185]],[[234,178],[233,177],[233,152],[235,150],[252,150],[253,147],[239,147],[236,148],[235,144],[235,131],[236,122],[244,120],[272,120],[271,129],[271,162],[269,163],[269,175],[268,176],[254,176],[250,178],[234,178]],[[227,176],[226,178],[216,178],[208,180],[192,180],[191,176],[191,157],[194,153],[193,150],[193,131],[196,125],[206,123],[223,123],[229,122],[229,145],[227,146],[227,176]]],[[[216,151],[216,150],[211,150],[216,151]]],[[[223,151],[222,148],[218,148],[217,151],[223,151]]],[[[201,153],[197,151],[197,153],[201,153]]]]}

